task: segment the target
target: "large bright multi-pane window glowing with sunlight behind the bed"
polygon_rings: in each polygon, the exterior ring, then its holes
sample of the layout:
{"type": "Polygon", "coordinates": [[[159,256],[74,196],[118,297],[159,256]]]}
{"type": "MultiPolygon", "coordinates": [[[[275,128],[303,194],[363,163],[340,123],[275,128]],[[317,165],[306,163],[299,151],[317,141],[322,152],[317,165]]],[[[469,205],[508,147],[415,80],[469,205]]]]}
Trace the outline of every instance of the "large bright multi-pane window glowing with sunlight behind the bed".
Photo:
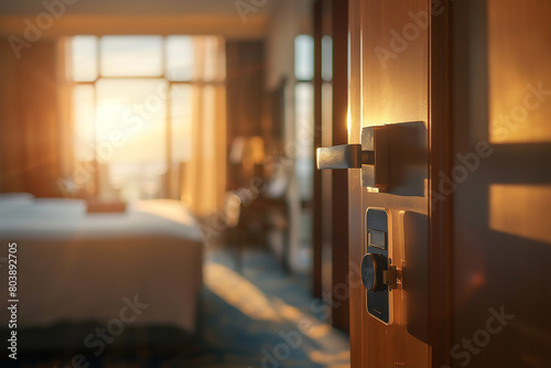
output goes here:
{"type": "MultiPolygon", "coordinates": [[[[219,45],[187,35],[69,40],[74,182],[85,195],[181,196],[197,121],[208,120],[224,85],[219,45]]],[[[213,139],[202,143],[208,154],[213,139]]]]}

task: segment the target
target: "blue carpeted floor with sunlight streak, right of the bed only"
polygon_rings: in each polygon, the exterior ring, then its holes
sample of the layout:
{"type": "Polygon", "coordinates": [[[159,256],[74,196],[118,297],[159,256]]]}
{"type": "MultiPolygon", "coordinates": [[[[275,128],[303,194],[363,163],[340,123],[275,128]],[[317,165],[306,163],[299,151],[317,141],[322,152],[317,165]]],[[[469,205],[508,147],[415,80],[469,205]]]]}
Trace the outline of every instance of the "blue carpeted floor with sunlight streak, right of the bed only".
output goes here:
{"type": "Polygon", "coordinates": [[[240,273],[220,251],[205,267],[204,339],[234,353],[227,367],[348,367],[348,337],[327,324],[331,310],[309,296],[304,278],[285,274],[264,251],[244,258],[240,273]]]}

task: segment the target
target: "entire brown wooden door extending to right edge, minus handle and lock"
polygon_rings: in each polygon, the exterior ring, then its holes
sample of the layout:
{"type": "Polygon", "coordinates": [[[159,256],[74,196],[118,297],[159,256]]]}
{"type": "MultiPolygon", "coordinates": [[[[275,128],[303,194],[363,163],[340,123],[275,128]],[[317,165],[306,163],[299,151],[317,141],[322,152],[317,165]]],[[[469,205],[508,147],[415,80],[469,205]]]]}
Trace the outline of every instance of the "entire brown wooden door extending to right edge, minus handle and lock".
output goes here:
{"type": "Polygon", "coordinates": [[[348,142],[422,121],[428,143],[421,195],[349,171],[353,368],[549,367],[549,14],[548,0],[350,0],[348,142]],[[355,275],[369,207],[388,210],[403,270],[388,325],[355,275]]]}

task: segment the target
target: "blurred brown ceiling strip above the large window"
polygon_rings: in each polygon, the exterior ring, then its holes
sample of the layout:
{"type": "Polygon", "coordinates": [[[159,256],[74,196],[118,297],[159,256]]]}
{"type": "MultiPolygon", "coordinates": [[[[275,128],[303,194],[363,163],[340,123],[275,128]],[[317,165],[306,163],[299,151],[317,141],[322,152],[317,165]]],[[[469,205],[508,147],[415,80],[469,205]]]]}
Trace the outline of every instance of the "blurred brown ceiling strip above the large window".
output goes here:
{"type": "MultiPolygon", "coordinates": [[[[46,18],[52,19],[52,14],[55,20],[52,26],[42,26],[42,30],[45,36],[54,37],[71,34],[219,34],[228,39],[261,39],[273,9],[281,1],[0,0],[0,35],[24,35],[29,23],[39,24],[40,14],[45,13],[46,18]],[[244,10],[239,3],[251,8],[244,10]]],[[[41,21],[47,23],[44,17],[41,21]]]]}

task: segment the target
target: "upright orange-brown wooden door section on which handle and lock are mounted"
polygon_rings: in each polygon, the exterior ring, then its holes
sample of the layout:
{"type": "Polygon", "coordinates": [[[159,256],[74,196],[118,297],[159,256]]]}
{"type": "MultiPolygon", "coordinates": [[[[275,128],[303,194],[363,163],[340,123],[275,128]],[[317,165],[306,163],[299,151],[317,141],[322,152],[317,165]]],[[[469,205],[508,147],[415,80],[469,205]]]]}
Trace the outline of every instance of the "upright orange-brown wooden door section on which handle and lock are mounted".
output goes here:
{"type": "Polygon", "coordinates": [[[350,1],[348,142],[360,143],[365,127],[417,122],[419,129],[411,133],[423,149],[417,167],[402,166],[401,159],[406,162],[411,152],[396,143],[400,138],[390,132],[389,142],[395,143],[390,143],[389,175],[395,183],[386,193],[361,187],[360,171],[349,170],[353,368],[431,367],[439,360],[433,359],[433,347],[444,350],[439,346],[446,346],[449,339],[443,302],[446,277],[433,278],[445,267],[445,234],[439,232],[444,228],[445,208],[442,204],[431,206],[431,177],[445,165],[446,119],[441,118],[446,112],[439,109],[445,105],[444,98],[440,93],[431,96],[434,89],[445,88],[445,79],[434,83],[432,77],[446,73],[442,68],[445,53],[434,51],[445,48],[445,40],[434,33],[447,24],[446,17],[444,6],[431,6],[430,0],[350,1]],[[368,291],[355,275],[366,253],[368,208],[388,213],[389,258],[403,271],[398,289],[390,292],[390,324],[367,313],[368,291]],[[431,295],[440,296],[432,300],[431,295]],[[435,323],[439,318],[441,323],[435,323]],[[431,344],[435,334],[441,336],[431,344]]]}

